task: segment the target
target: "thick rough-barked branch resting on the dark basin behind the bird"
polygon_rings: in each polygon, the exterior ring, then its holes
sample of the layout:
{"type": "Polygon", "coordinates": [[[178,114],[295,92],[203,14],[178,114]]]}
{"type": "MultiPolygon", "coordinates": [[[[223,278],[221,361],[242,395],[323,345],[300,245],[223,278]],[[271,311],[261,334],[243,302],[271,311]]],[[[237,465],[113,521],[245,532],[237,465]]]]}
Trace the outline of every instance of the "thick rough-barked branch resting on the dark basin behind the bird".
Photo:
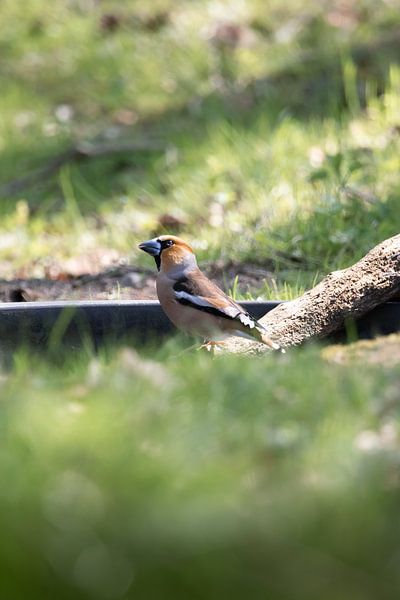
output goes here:
{"type": "MultiPolygon", "coordinates": [[[[375,246],[356,264],[334,271],[296,300],[277,306],[261,323],[283,348],[322,338],[400,292],[400,235],[375,246]]],[[[232,338],[228,352],[263,353],[269,349],[232,338]]]]}

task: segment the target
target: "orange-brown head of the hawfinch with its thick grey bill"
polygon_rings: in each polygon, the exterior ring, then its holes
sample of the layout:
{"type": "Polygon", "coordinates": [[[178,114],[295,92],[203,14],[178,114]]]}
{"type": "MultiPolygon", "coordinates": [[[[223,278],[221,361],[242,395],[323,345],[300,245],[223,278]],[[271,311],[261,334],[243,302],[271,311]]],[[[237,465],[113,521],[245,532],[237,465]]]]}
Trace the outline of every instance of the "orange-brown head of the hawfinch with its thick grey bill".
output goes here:
{"type": "Polygon", "coordinates": [[[160,235],[139,244],[140,250],[154,257],[157,269],[169,273],[181,271],[196,265],[192,248],[174,235],[160,235]]]}

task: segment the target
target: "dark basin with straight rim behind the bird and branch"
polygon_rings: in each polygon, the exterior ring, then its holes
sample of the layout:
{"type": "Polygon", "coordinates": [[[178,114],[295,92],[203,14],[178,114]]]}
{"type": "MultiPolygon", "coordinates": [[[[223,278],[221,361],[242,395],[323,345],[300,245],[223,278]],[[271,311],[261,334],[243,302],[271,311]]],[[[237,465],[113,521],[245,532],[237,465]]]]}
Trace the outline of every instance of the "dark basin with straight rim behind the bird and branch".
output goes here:
{"type": "MultiPolygon", "coordinates": [[[[242,302],[255,318],[281,302],[242,302]]],[[[159,302],[147,301],[55,301],[0,304],[0,346],[12,351],[21,345],[52,349],[129,339],[154,341],[172,333],[174,326],[159,302]]],[[[368,338],[400,331],[400,302],[387,302],[359,319],[350,320],[339,338],[368,338]]],[[[339,339],[335,334],[335,339],[339,339]]]]}

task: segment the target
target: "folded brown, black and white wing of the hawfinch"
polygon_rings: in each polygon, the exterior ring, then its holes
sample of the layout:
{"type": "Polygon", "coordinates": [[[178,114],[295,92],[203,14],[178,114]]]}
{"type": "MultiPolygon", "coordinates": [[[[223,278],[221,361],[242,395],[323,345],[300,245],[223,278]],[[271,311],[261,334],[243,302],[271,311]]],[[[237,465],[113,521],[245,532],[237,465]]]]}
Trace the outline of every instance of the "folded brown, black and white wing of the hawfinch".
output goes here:
{"type": "Polygon", "coordinates": [[[175,299],[182,305],[191,306],[216,317],[237,320],[249,329],[258,325],[253,317],[207,279],[200,270],[180,278],[173,289],[175,299]]]}

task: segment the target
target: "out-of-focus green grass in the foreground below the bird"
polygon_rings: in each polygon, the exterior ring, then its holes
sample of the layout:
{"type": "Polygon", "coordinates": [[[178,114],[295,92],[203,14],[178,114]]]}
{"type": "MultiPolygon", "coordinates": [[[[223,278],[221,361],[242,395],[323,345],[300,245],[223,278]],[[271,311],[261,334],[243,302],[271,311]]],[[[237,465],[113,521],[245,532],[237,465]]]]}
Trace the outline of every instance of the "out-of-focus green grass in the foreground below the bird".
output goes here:
{"type": "Polygon", "coordinates": [[[396,598],[399,369],[179,350],[3,377],[2,597],[396,598]]]}

